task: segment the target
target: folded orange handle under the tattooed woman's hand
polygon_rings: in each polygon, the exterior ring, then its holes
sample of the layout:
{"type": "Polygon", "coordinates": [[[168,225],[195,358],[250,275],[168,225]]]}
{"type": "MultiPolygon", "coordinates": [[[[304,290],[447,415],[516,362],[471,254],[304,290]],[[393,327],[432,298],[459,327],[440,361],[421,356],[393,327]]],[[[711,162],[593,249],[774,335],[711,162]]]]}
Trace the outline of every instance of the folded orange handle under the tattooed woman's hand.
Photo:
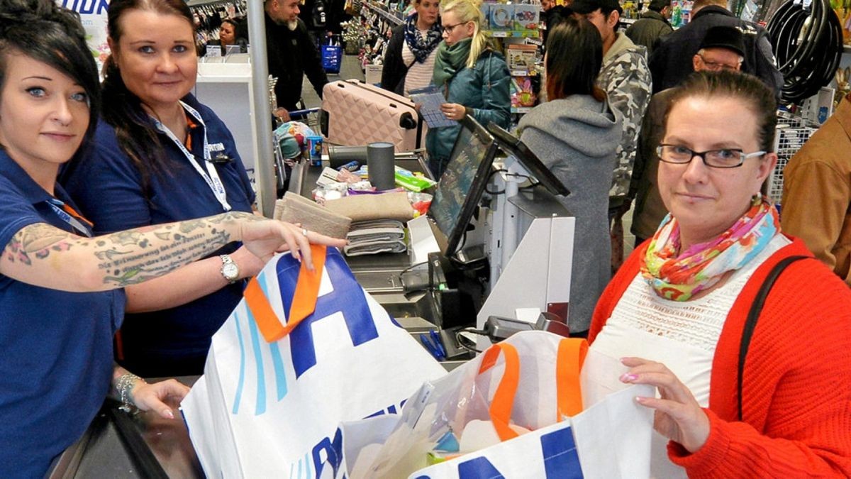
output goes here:
{"type": "Polygon", "coordinates": [[[243,296],[248,310],[254,316],[254,322],[263,334],[266,342],[273,343],[288,335],[299,326],[300,322],[307,316],[313,314],[316,309],[317,297],[319,297],[319,285],[322,282],[322,272],[325,266],[325,255],[327,249],[323,245],[311,245],[311,263],[313,271],[307,269],[306,263],[302,262],[299,268],[299,279],[295,282],[293,303],[289,307],[287,324],[277,317],[271,309],[269,298],[260,287],[256,277],[248,281],[243,296]]]}

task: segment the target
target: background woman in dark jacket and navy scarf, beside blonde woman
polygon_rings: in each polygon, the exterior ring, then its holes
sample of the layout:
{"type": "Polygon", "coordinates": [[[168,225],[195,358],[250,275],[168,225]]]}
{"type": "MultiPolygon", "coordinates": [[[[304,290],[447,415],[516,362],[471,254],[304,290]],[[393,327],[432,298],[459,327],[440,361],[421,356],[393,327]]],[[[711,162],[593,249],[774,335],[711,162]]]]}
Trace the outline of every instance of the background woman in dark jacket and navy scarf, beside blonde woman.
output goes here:
{"type": "Polygon", "coordinates": [[[393,29],[387,43],[381,88],[408,95],[431,84],[437,45],[443,39],[439,12],[440,0],[414,0],[414,14],[393,29]]]}

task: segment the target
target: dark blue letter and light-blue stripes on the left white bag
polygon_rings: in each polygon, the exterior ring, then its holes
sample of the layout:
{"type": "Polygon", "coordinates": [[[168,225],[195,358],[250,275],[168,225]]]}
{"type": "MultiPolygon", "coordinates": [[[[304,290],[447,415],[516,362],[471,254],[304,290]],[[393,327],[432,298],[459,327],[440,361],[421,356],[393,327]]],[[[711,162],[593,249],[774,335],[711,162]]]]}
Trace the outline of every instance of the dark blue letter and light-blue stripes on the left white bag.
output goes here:
{"type": "MultiPolygon", "coordinates": [[[[283,308],[289,311],[293,303],[293,295],[295,285],[298,281],[300,264],[293,257],[281,257],[277,263],[277,283],[280,291],[283,308]]],[[[313,323],[326,319],[330,316],[340,314],[346,322],[346,329],[349,332],[351,343],[354,346],[359,346],[363,343],[378,338],[378,329],[375,327],[374,318],[369,311],[369,305],[364,296],[363,288],[357,284],[354,276],[346,266],[345,261],[340,256],[340,252],[334,249],[328,249],[328,256],[325,260],[325,271],[328,274],[328,280],[331,282],[332,291],[317,298],[316,309],[313,314],[307,316],[293,332],[289,334],[291,360],[295,372],[295,378],[298,379],[302,374],[316,366],[316,345],[313,342],[313,332],[311,326],[313,323]],[[344,313],[345,309],[345,313],[344,313]]],[[[261,273],[257,280],[260,282],[260,287],[269,297],[270,287],[269,279],[266,274],[261,273]]],[[[272,291],[274,292],[274,291],[272,291]]],[[[254,368],[257,378],[257,400],[254,406],[254,414],[260,415],[266,413],[266,370],[263,364],[264,346],[268,349],[268,355],[271,357],[271,363],[275,377],[275,397],[277,401],[283,400],[287,395],[287,377],[286,368],[284,366],[283,357],[277,343],[266,343],[260,335],[257,323],[254,321],[254,316],[247,309],[248,337],[251,343],[251,349],[254,353],[254,368]]],[[[236,414],[239,411],[242,401],[243,388],[245,384],[245,368],[247,365],[246,359],[246,344],[243,338],[243,330],[240,326],[243,323],[243,318],[237,313],[235,316],[235,324],[237,326],[237,341],[239,343],[239,379],[237,381],[237,392],[233,401],[232,413],[236,414]]]]}

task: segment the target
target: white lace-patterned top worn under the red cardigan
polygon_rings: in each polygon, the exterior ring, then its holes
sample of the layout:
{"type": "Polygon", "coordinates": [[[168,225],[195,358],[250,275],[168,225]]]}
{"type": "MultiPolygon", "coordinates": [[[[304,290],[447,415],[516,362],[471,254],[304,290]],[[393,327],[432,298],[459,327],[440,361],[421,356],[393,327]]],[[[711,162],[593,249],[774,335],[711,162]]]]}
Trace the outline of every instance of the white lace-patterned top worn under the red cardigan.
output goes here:
{"type": "MultiPolygon", "coordinates": [[[[778,234],[727,283],[691,301],[659,297],[637,274],[591,349],[612,358],[637,356],[659,361],[692,391],[701,407],[708,407],[712,358],[724,320],[751,274],[775,251],[790,243],[778,234]]],[[[668,459],[666,444],[665,437],[654,431],[651,476],[685,477],[685,470],[668,459]]]]}

